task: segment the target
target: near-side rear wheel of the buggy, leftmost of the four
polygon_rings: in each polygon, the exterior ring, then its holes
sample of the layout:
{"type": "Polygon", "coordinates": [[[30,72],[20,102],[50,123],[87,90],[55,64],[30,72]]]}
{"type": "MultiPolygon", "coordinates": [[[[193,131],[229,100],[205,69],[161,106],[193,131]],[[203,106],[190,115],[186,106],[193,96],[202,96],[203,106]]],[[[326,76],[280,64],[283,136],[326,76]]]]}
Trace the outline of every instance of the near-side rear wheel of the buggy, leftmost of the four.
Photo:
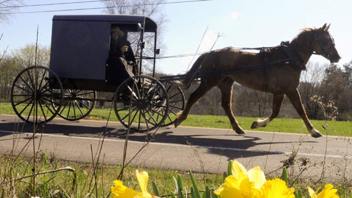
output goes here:
{"type": "Polygon", "coordinates": [[[62,83],[46,67],[28,67],[12,83],[12,108],[20,119],[29,123],[46,123],[54,119],[61,108],[62,99],[62,83]],[[51,105],[53,99],[56,100],[56,109],[51,105]]]}

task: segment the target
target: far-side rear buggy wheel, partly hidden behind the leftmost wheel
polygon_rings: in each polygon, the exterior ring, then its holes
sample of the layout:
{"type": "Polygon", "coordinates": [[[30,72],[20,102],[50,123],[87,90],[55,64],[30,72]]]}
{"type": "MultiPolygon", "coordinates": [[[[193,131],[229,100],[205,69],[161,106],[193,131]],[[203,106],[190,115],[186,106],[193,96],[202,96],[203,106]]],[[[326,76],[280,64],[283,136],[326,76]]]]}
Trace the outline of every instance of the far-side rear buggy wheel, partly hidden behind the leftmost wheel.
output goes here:
{"type": "MultiPolygon", "coordinates": [[[[89,115],[93,110],[96,99],[96,91],[65,89],[64,98],[59,116],[69,121],[80,120],[89,115]]],[[[57,109],[57,101],[52,105],[57,109]]]]}

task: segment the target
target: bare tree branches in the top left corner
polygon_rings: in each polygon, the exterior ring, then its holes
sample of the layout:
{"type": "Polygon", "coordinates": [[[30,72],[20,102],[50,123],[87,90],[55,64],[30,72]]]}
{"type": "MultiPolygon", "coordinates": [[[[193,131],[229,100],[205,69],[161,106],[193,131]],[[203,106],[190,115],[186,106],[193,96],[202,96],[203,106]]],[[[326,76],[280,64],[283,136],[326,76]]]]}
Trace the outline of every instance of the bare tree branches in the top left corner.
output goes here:
{"type": "Polygon", "coordinates": [[[8,23],[13,12],[23,5],[23,0],[0,0],[0,23],[8,23]]]}

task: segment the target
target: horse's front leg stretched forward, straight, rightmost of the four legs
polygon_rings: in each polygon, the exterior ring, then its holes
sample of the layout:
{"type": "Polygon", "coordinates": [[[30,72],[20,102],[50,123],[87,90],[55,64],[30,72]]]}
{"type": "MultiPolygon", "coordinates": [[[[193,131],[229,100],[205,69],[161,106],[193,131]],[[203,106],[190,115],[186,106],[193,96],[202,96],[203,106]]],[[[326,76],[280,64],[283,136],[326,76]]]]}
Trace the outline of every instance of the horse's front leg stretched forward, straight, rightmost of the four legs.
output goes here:
{"type": "Polygon", "coordinates": [[[300,92],[298,92],[298,89],[296,89],[291,93],[287,93],[286,95],[290,99],[292,105],[295,107],[297,113],[303,119],[303,122],[306,125],[308,131],[310,132],[310,135],[312,137],[321,137],[322,136],[321,133],[318,130],[314,129],[314,126],[312,125],[312,123],[309,122],[309,119],[307,117],[306,111],[304,110],[304,107],[301,101],[300,92]]]}

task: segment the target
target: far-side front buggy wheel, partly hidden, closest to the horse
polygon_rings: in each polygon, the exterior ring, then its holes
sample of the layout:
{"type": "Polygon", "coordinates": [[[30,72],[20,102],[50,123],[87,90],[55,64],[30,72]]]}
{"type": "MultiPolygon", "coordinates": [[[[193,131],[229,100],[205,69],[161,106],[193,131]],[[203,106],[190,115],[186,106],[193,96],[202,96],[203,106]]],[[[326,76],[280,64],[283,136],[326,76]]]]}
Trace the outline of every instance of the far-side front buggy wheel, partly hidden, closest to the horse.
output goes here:
{"type": "MultiPolygon", "coordinates": [[[[174,124],[175,119],[177,117],[177,112],[184,110],[185,107],[185,98],[182,89],[180,88],[180,83],[174,81],[165,81],[162,83],[168,93],[169,97],[169,109],[168,116],[161,124],[162,127],[169,126],[174,124]]],[[[166,111],[166,109],[162,109],[162,111],[166,111]]],[[[161,119],[161,117],[157,117],[161,119]]]]}

